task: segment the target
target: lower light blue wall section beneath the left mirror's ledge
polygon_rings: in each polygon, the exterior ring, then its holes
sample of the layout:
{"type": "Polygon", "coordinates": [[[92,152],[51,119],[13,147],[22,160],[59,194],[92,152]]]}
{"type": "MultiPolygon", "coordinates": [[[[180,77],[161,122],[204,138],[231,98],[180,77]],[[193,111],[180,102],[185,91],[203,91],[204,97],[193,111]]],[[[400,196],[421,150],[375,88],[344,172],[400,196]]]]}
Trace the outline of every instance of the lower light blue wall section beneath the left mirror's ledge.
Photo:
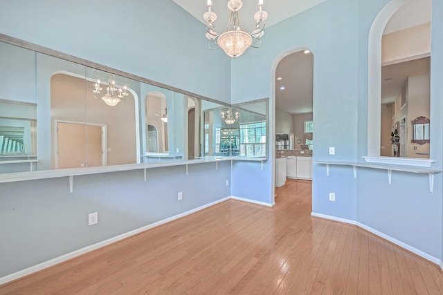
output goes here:
{"type": "Polygon", "coordinates": [[[0,184],[0,278],[226,198],[229,176],[219,162],[76,176],[72,194],[68,178],[0,184]]]}

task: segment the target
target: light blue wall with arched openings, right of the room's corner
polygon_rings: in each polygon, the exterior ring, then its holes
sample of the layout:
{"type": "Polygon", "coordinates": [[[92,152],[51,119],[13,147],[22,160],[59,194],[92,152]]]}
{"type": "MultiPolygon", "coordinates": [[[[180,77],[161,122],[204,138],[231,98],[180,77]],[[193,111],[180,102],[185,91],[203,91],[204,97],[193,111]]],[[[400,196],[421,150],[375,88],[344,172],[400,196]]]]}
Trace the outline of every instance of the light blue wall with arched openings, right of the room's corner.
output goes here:
{"type": "MultiPolygon", "coordinates": [[[[266,29],[262,47],[249,49],[231,62],[232,102],[271,97],[273,71],[283,53],[310,48],[314,54],[314,162],[364,162],[368,146],[368,35],[372,22],[388,0],[328,0],[266,29]],[[251,87],[244,87],[251,85],[251,87]],[[328,147],[335,146],[335,155],[328,147]]],[[[443,55],[442,1],[433,1],[431,57],[431,158],[442,167],[443,55]]],[[[273,130],[275,117],[271,115],[273,130]]],[[[273,140],[273,136],[269,138],[273,140]]],[[[252,164],[233,167],[233,196],[270,202],[272,164],[264,171],[252,164]],[[263,176],[265,175],[265,176],[263,176]],[[254,181],[255,180],[255,181],[254,181]],[[263,181],[264,180],[264,181],[263,181]],[[248,187],[244,187],[246,184],[248,187]]],[[[433,193],[427,174],[352,166],[313,166],[313,211],[360,222],[381,234],[442,259],[442,173],[435,174],[433,193]],[[329,201],[329,192],[336,201],[329,201]]]]}

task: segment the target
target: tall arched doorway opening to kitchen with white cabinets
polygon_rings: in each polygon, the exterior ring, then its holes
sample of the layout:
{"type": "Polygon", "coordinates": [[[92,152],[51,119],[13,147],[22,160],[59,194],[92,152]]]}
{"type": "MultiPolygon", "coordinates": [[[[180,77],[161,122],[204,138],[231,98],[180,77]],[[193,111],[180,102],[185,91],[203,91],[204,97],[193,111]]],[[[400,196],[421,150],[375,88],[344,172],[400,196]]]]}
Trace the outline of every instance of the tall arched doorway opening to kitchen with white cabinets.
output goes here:
{"type": "Polygon", "coordinates": [[[272,133],[272,150],[275,157],[274,198],[275,187],[284,185],[287,176],[293,179],[311,180],[311,150],[314,144],[313,79],[314,55],[309,48],[294,48],[282,53],[274,61],[272,104],[275,118],[272,133]],[[298,160],[300,160],[300,169],[297,168],[298,160]],[[305,160],[310,161],[306,163],[305,160]],[[287,163],[289,165],[286,165],[287,163]]]}

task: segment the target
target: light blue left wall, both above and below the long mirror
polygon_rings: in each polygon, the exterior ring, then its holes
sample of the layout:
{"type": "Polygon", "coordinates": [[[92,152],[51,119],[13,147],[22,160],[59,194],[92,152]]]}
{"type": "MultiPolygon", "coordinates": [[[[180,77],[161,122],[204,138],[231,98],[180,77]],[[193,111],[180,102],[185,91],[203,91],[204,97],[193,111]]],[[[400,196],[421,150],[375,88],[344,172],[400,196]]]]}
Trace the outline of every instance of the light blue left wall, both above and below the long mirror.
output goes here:
{"type": "MultiPolygon", "coordinates": [[[[1,34],[229,103],[230,59],[205,32],[172,1],[0,1],[1,34]]],[[[0,278],[230,196],[230,162],[188,168],[78,176],[72,194],[68,178],[0,184],[0,278]]]]}

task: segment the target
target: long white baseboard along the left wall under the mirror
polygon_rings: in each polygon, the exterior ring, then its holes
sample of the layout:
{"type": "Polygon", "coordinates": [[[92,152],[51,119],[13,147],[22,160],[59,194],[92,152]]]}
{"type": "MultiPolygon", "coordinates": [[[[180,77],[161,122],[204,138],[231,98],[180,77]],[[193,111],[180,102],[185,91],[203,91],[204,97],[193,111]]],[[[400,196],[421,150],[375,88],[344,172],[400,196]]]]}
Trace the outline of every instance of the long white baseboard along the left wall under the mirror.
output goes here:
{"type": "Polygon", "coordinates": [[[153,227],[158,227],[159,225],[163,225],[163,224],[165,224],[167,222],[170,222],[172,220],[176,220],[178,218],[182,218],[184,216],[190,215],[192,213],[195,213],[195,212],[200,211],[202,209],[211,207],[211,206],[213,206],[215,204],[218,204],[219,202],[224,202],[224,201],[229,200],[229,199],[230,199],[230,196],[226,197],[226,198],[222,198],[222,199],[217,200],[215,202],[210,202],[209,204],[205,204],[205,205],[203,205],[201,207],[197,207],[195,209],[183,212],[183,213],[178,214],[176,216],[172,216],[170,218],[166,218],[166,219],[160,220],[158,222],[154,222],[154,223],[152,223],[150,225],[146,225],[145,227],[140,227],[138,229],[134,229],[133,231],[128,231],[125,234],[121,234],[119,236],[115,236],[114,238],[109,238],[107,240],[103,240],[102,242],[98,242],[96,244],[89,245],[89,246],[84,247],[82,249],[78,249],[78,250],[72,251],[72,252],[70,252],[68,254],[64,254],[62,256],[59,256],[59,257],[53,258],[51,260],[45,261],[44,263],[39,263],[38,265],[34,265],[32,267],[28,267],[28,268],[23,269],[23,270],[21,270],[19,272],[15,272],[13,274],[8,274],[8,276],[3,276],[2,278],[0,278],[0,285],[3,285],[4,283],[8,283],[11,280],[16,280],[17,278],[21,278],[22,276],[27,276],[28,274],[32,274],[34,272],[38,272],[39,270],[45,269],[47,267],[51,267],[51,266],[56,265],[58,263],[62,263],[64,261],[66,261],[66,260],[75,258],[75,257],[80,256],[82,254],[85,254],[85,253],[87,253],[89,251],[93,251],[95,249],[98,249],[98,248],[110,245],[113,242],[118,242],[119,240],[123,240],[124,238],[128,238],[130,236],[134,236],[134,235],[139,234],[139,233],[141,233],[143,231],[146,231],[147,229],[152,229],[153,227]]]}

